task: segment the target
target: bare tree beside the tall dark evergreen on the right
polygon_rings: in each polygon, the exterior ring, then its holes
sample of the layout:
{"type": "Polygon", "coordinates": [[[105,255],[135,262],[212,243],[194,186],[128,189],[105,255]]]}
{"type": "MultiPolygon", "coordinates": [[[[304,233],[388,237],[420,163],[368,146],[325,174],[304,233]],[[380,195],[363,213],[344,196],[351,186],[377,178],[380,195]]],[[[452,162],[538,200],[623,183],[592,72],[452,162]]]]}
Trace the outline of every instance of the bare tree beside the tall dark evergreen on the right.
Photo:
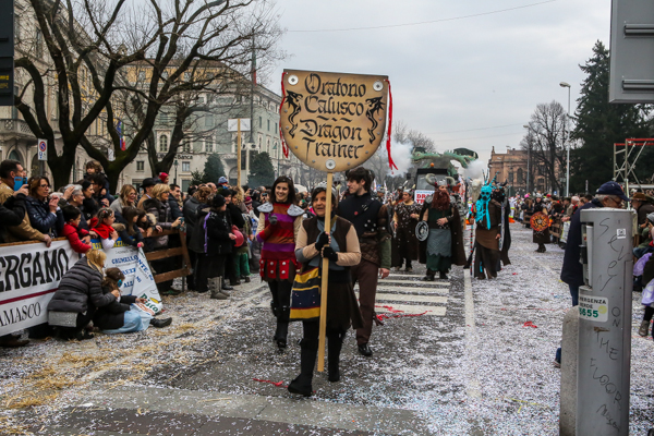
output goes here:
{"type": "Polygon", "coordinates": [[[559,178],[566,168],[566,122],[567,113],[559,102],[540,104],[531,116],[529,133],[520,143],[522,149],[530,150],[532,167],[543,169],[546,191],[561,192],[559,178]]]}

